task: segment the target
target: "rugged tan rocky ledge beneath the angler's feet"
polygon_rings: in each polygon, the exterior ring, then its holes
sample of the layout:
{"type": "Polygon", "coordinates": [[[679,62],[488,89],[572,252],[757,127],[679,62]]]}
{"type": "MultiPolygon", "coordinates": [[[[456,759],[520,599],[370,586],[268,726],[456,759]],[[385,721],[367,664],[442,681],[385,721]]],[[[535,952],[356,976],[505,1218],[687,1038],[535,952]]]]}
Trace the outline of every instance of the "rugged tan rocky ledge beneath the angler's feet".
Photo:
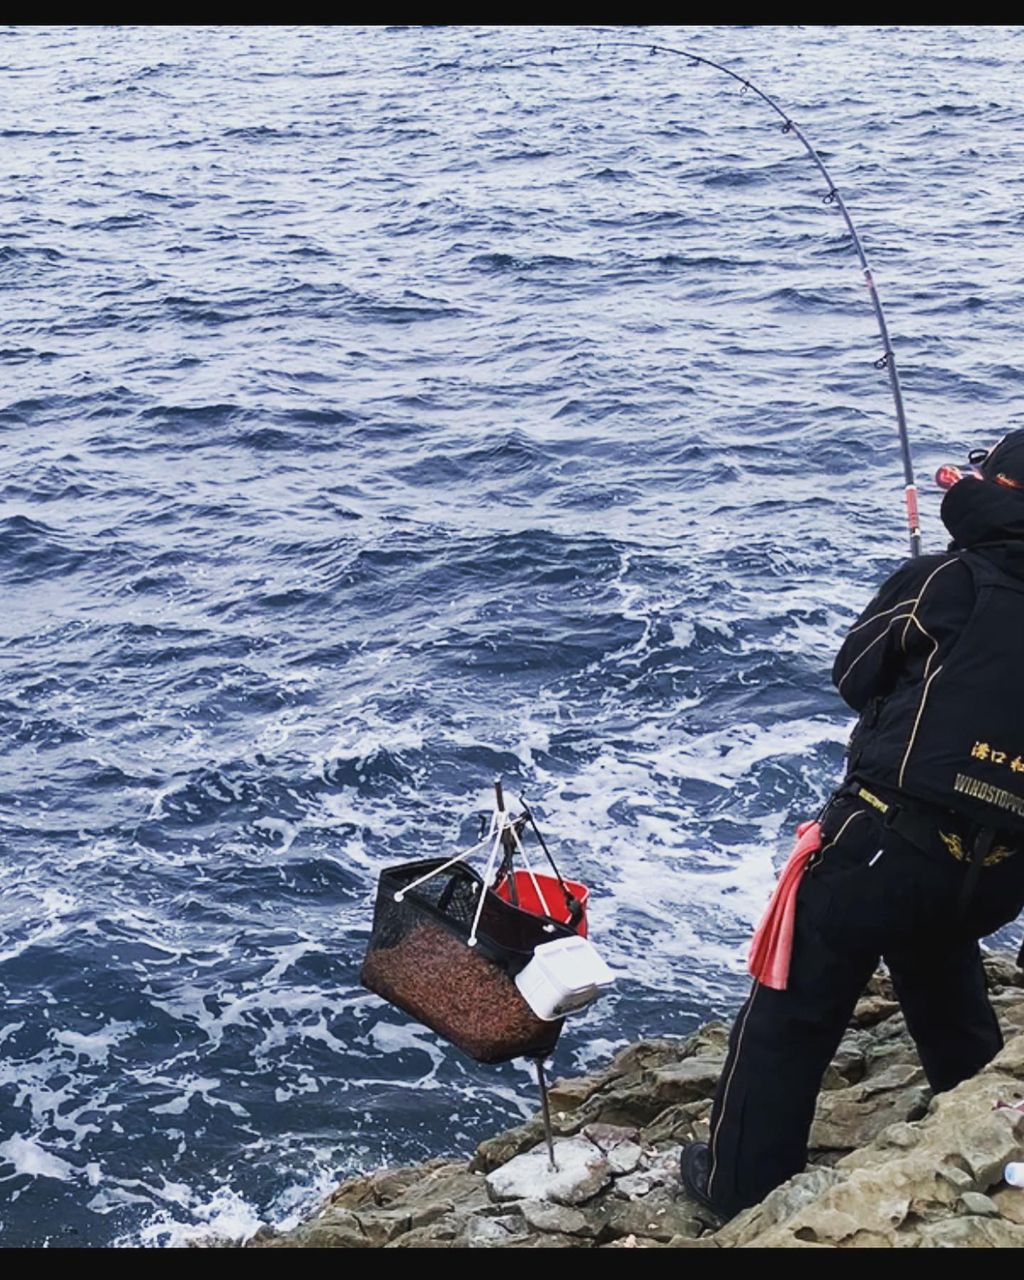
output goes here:
{"type": "Polygon", "coordinates": [[[726,1028],[641,1041],[599,1074],[552,1088],[558,1174],[539,1117],[433,1160],[343,1183],[261,1248],[736,1248],[1024,1244],[1024,977],[986,961],[1006,1034],[974,1079],[932,1098],[887,979],[878,975],[829,1068],[809,1167],[724,1226],[681,1194],[680,1146],[707,1138],[726,1028]]]}

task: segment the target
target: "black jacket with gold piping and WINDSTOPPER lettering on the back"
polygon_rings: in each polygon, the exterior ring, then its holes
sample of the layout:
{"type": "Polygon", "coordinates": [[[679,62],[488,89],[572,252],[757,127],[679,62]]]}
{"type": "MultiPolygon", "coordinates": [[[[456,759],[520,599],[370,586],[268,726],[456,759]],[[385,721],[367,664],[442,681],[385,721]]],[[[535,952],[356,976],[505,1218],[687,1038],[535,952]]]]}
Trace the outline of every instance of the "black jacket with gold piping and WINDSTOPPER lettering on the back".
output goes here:
{"type": "Polygon", "coordinates": [[[849,771],[1024,833],[1024,494],[961,480],[942,520],[950,549],[899,568],[836,658],[849,771]]]}

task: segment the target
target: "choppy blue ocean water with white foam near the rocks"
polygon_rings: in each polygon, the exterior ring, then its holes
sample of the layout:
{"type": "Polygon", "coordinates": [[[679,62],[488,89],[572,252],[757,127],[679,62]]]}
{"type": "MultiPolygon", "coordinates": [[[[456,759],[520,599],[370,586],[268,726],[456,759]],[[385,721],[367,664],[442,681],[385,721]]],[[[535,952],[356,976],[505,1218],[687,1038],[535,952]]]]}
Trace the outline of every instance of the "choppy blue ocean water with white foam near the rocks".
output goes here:
{"type": "MultiPolygon", "coordinates": [[[[3,1244],[287,1222],[531,1110],[357,980],[495,774],[621,970],[556,1074],[741,998],[901,474],[819,175],[648,36],[0,35],[3,1244]]],[[[657,38],[833,168],[923,481],[1024,425],[1024,33],[657,38]]]]}

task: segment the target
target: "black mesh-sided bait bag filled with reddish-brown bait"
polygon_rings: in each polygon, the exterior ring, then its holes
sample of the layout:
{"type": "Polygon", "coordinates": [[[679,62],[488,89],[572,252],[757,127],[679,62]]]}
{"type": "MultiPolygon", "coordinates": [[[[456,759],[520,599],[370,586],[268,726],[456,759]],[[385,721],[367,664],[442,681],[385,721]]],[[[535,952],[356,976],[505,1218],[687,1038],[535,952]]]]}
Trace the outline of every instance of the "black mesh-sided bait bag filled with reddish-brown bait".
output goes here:
{"type": "Polygon", "coordinates": [[[538,1018],[513,978],[539,943],[572,936],[568,925],[485,890],[465,863],[403,863],[380,876],[361,980],[477,1062],[544,1056],[562,1020],[538,1018]],[[476,946],[470,947],[481,892],[476,946]]]}

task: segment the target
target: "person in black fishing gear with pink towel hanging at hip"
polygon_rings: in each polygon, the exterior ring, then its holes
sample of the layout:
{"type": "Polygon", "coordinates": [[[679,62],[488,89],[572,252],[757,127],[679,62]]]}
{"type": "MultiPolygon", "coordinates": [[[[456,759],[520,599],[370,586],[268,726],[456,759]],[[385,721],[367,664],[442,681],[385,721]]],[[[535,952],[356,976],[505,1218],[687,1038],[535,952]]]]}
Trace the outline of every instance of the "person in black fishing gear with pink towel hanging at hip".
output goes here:
{"type": "Polygon", "coordinates": [[[801,827],[751,948],[709,1143],[685,1188],[731,1216],[801,1170],[822,1075],[884,960],[932,1089],[1002,1046],[978,940],[1024,906],[1024,430],[970,454],[942,520],[858,618],[833,682],[847,777],[801,827]]]}

